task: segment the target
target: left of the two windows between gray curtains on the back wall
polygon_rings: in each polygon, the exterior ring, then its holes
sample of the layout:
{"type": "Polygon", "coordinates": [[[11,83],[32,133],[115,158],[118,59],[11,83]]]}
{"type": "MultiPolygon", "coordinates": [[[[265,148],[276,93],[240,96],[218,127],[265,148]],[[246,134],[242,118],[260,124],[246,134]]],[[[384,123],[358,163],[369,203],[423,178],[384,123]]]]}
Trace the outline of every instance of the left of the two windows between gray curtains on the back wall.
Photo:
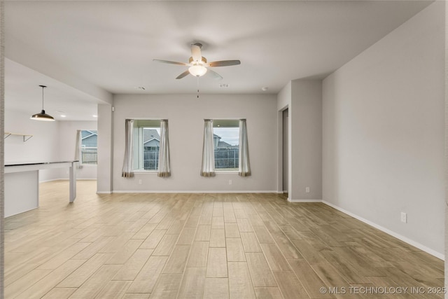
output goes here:
{"type": "Polygon", "coordinates": [[[158,170],[160,120],[134,120],[134,169],[158,170]]]}

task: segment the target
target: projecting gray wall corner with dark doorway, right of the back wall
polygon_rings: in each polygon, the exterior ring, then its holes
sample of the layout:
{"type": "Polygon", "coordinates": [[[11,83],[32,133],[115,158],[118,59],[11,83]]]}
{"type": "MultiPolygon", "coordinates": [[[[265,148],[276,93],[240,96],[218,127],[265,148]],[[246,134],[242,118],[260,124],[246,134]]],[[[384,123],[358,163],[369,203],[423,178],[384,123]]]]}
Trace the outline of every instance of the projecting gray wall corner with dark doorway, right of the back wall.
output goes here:
{"type": "MultiPolygon", "coordinates": [[[[290,81],[277,96],[279,134],[283,134],[283,111],[288,108],[288,174],[283,174],[284,144],[278,141],[278,184],[288,179],[288,200],[322,200],[322,83],[320,80],[290,81]]],[[[280,191],[280,190],[279,190],[280,191]]]]}

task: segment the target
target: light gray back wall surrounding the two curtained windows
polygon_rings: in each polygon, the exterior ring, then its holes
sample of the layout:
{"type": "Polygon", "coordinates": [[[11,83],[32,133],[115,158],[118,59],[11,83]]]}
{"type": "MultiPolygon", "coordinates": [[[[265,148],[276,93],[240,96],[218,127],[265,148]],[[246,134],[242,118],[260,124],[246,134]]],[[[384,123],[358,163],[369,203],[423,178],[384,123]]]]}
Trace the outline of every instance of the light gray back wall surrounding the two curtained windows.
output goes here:
{"type": "Polygon", "coordinates": [[[275,95],[116,95],[113,113],[113,190],[270,191],[276,190],[277,115],[275,95]],[[172,176],[121,176],[125,118],[167,118],[172,176]],[[246,118],[252,175],[200,176],[204,118],[246,118]],[[138,181],[141,179],[142,184],[138,181]],[[229,180],[232,185],[229,185],[229,180]]]}

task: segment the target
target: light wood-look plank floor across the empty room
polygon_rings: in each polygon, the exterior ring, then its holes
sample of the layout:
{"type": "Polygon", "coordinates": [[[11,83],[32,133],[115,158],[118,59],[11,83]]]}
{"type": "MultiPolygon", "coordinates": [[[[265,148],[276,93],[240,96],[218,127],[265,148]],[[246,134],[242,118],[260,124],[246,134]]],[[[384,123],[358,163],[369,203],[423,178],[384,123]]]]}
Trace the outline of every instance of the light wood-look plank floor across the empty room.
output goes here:
{"type": "Polygon", "coordinates": [[[6,298],[443,297],[442,260],[325,204],[95,188],[6,219],[6,298]]]}

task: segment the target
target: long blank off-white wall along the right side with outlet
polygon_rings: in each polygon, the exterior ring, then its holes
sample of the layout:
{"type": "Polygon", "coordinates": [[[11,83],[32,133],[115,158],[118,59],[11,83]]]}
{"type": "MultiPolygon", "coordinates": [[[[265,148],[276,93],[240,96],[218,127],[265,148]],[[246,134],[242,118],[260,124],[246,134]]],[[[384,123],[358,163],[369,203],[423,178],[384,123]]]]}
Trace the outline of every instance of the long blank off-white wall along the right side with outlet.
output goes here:
{"type": "Polygon", "coordinates": [[[443,256],[444,1],[323,81],[323,200],[443,256]]]}

